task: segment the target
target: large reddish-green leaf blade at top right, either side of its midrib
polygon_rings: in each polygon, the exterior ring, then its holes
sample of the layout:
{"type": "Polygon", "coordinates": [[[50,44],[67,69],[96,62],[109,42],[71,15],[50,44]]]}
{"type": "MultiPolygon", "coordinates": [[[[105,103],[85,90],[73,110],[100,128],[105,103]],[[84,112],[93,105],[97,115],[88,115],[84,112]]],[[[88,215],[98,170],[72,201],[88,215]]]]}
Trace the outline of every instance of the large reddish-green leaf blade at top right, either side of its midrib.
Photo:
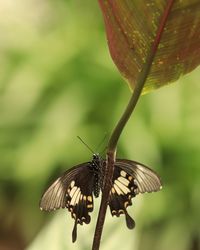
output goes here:
{"type": "MultiPolygon", "coordinates": [[[[166,0],[99,0],[111,57],[133,90],[165,13],[166,0]]],[[[200,64],[200,1],[175,0],[143,93],[200,64]]]]}

